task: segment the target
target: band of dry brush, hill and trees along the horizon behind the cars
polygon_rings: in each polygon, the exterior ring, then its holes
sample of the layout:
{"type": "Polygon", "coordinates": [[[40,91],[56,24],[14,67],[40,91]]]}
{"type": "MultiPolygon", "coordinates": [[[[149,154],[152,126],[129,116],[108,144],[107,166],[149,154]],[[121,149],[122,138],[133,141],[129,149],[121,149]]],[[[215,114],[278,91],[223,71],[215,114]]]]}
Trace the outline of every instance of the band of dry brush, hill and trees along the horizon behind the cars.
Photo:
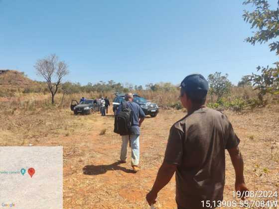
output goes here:
{"type": "MultiPolygon", "coordinates": [[[[238,86],[229,82],[226,76],[221,73],[211,74],[209,77],[210,91],[207,96],[207,105],[212,108],[232,109],[241,112],[244,109],[253,109],[257,106],[266,106],[267,104],[278,104],[279,95],[267,94],[263,101],[259,100],[260,90],[255,90],[251,82],[242,79],[238,86]],[[215,91],[215,86],[220,86],[220,82],[227,84],[226,91],[220,94],[215,91]],[[244,84],[243,84],[244,82],[244,84]]],[[[68,108],[71,100],[79,100],[81,97],[87,99],[100,98],[108,96],[113,100],[116,92],[134,92],[159,105],[160,108],[181,109],[182,105],[178,99],[179,88],[171,83],[147,84],[142,86],[133,86],[133,84],[121,84],[114,81],[96,84],[88,83],[82,86],[79,83],[64,82],[61,84],[57,95],[55,96],[54,106],[50,104],[50,93],[45,82],[33,81],[23,73],[15,70],[0,70],[0,102],[5,102],[8,108],[6,112],[12,112],[12,109],[22,108],[49,108],[50,106],[59,108],[68,108]]]]}

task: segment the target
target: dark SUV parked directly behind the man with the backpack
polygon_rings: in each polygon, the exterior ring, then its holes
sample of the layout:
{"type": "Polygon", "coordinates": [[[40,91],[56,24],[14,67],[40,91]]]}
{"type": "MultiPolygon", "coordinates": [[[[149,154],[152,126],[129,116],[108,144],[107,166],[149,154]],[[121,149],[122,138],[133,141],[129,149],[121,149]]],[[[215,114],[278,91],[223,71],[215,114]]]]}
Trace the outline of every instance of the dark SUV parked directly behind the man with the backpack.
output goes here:
{"type": "MultiPolygon", "coordinates": [[[[123,100],[125,100],[125,94],[116,93],[116,97],[113,101],[113,111],[116,114],[116,111],[123,100]]],[[[134,94],[133,102],[139,104],[145,115],[150,115],[151,117],[156,117],[159,112],[159,107],[157,104],[149,103],[143,97],[139,97],[134,94]]]]}

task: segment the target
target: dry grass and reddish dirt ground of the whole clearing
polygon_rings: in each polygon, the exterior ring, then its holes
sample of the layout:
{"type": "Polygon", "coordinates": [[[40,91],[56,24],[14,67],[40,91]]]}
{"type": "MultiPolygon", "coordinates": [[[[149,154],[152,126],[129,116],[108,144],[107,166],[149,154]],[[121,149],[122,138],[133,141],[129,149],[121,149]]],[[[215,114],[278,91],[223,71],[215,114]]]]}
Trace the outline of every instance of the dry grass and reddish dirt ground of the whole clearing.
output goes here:
{"type": "MultiPolygon", "coordinates": [[[[186,112],[161,110],[155,118],[146,117],[140,136],[140,171],[133,174],[131,150],[128,163],[118,163],[121,137],[113,132],[112,109],[106,117],[76,116],[69,108],[32,105],[37,103],[0,110],[0,146],[63,146],[65,209],[148,208],[145,195],[162,163],[169,128],[186,112]]],[[[241,139],[249,189],[279,191],[279,106],[225,113],[241,139]]],[[[224,200],[234,200],[234,169],[226,157],[224,200]]],[[[174,197],[173,178],[159,193],[156,207],[175,208],[174,197]]]]}

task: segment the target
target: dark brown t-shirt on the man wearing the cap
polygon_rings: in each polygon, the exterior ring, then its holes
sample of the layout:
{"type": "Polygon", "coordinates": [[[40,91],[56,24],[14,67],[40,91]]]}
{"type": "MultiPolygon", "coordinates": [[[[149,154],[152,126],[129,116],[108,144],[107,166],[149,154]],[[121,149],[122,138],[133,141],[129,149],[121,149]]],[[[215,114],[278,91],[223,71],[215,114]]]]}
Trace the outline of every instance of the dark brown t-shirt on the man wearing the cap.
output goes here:
{"type": "Polygon", "coordinates": [[[208,107],[174,123],[164,162],[177,165],[179,209],[202,209],[202,201],[216,201],[217,204],[223,200],[225,149],[234,148],[239,142],[228,118],[208,107]]]}

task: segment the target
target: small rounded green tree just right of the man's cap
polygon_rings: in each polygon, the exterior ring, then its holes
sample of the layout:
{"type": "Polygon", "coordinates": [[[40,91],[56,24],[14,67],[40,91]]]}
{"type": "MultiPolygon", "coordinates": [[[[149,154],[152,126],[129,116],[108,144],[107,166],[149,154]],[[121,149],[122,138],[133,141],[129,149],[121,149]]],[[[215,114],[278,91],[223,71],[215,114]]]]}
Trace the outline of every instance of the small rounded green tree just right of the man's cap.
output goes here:
{"type": "Polygon", "coordinates": [[[225,76],[221,75],[221,72],[215,72],[214,74],[210,74],[207,78],[209,83],[209,94],[217,96],[217,102],[220,99],[230,94],[232,83],[228,80],[228,74],[225,76]]]}

